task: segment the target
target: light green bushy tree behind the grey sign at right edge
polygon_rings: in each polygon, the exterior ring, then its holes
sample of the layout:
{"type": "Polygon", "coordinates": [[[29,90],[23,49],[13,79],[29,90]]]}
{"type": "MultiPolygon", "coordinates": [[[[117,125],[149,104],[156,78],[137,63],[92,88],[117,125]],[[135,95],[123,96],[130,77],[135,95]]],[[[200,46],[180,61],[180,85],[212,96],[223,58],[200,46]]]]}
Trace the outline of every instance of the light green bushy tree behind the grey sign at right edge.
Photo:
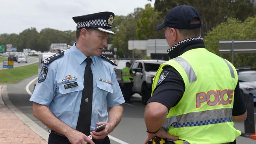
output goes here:
{"type": "MultiPolygon", "coordinates": [[[[255,39],[256,17],[249,17],[244,22],[236,18],[228,18],[213,28],[204,38],[206,48],[217,55],[231,61],[231,54],[220,54],[220,39],[255,39]]],[[[256,54],[234,54],[234,66],[256,66],[256,54]]]]}

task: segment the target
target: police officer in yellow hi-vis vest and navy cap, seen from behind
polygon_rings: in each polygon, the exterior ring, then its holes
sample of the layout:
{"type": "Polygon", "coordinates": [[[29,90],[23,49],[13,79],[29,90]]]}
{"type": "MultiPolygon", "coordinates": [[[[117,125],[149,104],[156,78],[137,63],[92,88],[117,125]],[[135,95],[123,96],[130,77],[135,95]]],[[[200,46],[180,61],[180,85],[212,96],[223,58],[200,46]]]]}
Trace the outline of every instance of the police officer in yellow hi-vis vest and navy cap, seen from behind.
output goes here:
{"type": "Polygon", "coordinates": [[[155,137],[161,144],[234,144],[241,135],[234,122],[247,117],[235,67],[205,48],[193,7],[171,9],[156,30],[162,28],[171,60],[154,78],[145,144],[156,143],[155,137]]]}

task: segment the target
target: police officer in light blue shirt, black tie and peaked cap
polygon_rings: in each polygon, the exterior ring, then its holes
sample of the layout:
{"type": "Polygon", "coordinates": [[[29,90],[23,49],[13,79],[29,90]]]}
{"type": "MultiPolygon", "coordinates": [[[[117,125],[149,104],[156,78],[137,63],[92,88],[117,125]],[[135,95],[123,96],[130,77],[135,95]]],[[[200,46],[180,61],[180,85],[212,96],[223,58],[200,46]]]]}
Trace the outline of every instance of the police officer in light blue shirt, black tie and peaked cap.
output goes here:
{"type": "Polygon", "coordinates": [[[49,144],[110,144],[107,135],[121,121],[124,98],[115,64],[100,54],[109,34],[115,35],[114,17],[111,12],[73,17],[72,48],[42,61],[30,101],[34,116],[51,130],[49,144]],[[95,131],[102,124],[106,127],[95,131]]]}

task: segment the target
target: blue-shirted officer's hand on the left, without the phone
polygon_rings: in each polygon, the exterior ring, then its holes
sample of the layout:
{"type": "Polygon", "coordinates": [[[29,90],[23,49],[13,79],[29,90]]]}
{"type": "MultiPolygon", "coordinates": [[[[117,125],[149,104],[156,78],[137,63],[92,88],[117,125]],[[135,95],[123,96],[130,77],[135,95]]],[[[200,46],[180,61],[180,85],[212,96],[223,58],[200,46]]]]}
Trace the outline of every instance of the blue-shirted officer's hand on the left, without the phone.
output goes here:
{"type": "MultiPolygon", "coordinates": [[[[91,135],[93,133],[91,132],[91,135]]],[[[95,144],[91,138],[87,137],[85,134],[74,129],[67,131],[65,136],[69,139],[71,144],[95,144]]]]}

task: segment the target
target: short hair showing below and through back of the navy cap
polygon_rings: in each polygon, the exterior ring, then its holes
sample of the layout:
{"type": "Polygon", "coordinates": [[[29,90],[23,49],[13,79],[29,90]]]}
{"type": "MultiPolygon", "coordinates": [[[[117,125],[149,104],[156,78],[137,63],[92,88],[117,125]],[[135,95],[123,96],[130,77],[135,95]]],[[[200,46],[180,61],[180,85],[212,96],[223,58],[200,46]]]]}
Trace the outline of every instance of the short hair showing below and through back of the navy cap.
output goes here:
{"type": "MultiPolygon", "coordinates": [[[[195,17],[191,20],[190,24],[200,24],[200,20],[198,17],[195,17]]],[[[191,37],[201,37],[201,28],[195,28],[195,29],[178,29],[180,35],[183,39],[188,39],[191,37]]]]}

